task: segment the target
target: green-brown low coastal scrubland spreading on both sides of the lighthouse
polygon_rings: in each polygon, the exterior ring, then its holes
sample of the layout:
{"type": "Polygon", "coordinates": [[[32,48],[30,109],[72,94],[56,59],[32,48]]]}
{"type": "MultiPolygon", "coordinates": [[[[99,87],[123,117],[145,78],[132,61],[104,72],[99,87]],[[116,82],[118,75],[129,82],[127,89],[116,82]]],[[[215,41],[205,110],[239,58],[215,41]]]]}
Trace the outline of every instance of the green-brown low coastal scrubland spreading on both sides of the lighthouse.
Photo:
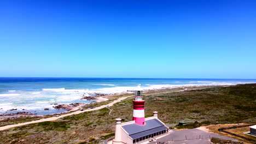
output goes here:
{"type": "MultiPolygon", "coordinates": [[[[170,128],[256,123],[256,84],[189,88],[188,91],[180,92],[162,89],[149,91],[144,95],[145,116],[150,117],[153,111],[158,111],[159,119],[170,128]],[[179,122],[187,124],[181,126],[178,125],[179,122]]],[[[112,115],[131,120],[132,99],[129,97],[110,106],[112,115]]],[[[109,101],[86,106],[84,109],[105,103],[109,101]]],[[[104,108],[63,117],[53,122],[3,130],[0,131],[0,143],[100,143],[114,135],[115,118],[109,116],[108,112],[104,108]]]]}

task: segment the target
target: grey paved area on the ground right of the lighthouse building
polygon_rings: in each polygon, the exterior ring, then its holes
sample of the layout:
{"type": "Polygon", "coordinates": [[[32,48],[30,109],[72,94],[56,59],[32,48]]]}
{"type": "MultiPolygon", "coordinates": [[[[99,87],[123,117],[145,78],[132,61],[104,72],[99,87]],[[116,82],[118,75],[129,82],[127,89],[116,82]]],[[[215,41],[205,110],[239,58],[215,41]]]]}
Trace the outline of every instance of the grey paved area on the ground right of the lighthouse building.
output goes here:
{"type": "Polygon", "coordinates": [[[199,129],[185,129],[185,130],[172,130],[170,134],[158,139],[158,142],[162,143],[162,142],[173,141],[169,143],[210,144],[210,139],[212,137],[237,141],[236,139],[233,139],[231,137],[217,135],[217,134],[209,133],[199,129]]]}

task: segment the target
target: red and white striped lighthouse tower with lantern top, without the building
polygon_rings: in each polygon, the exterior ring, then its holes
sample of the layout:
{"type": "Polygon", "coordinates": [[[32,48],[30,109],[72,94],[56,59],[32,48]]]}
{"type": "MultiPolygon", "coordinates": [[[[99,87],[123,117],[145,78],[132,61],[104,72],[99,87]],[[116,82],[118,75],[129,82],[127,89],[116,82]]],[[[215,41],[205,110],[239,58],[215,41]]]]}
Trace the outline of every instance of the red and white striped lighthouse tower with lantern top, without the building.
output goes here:
{"type": "Polygon", "coordinates": [[[138,86],[137,91],[135,91],[135,98],[133,102],[133,116],[132,121],[135,121],[138,125],[145,125],[145,115],[144,115],[144,103],[145,100],[142,97],[142,89],[138,86]]]}

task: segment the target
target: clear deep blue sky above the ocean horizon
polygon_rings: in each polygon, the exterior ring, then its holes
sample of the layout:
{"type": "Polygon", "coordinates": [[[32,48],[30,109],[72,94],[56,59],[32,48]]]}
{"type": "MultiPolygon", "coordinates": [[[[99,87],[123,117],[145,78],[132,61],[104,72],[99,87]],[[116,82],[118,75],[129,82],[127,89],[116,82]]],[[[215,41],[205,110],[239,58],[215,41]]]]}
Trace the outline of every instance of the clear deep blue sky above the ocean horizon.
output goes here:
{"type": "Polygon", "coordinates": [[[0,76],[256,79],[256,1],[0,1],[0,76]]]}

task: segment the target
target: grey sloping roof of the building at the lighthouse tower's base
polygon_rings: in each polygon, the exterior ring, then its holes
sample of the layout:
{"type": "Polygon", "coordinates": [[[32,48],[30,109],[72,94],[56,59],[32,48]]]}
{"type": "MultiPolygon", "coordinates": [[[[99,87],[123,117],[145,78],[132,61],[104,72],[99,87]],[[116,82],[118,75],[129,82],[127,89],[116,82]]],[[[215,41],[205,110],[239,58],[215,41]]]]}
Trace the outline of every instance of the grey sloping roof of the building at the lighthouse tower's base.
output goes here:
{"type": "Polygon", "coordinates": [[[139,137],[154,134],[158,131],[168,129],[164,124],[162,124],[158,119],[146,120],[145,125],[138,125],[136,123],[123,125],[123,129],[129,134],[129,136],[134,140],[139,137]]]}

